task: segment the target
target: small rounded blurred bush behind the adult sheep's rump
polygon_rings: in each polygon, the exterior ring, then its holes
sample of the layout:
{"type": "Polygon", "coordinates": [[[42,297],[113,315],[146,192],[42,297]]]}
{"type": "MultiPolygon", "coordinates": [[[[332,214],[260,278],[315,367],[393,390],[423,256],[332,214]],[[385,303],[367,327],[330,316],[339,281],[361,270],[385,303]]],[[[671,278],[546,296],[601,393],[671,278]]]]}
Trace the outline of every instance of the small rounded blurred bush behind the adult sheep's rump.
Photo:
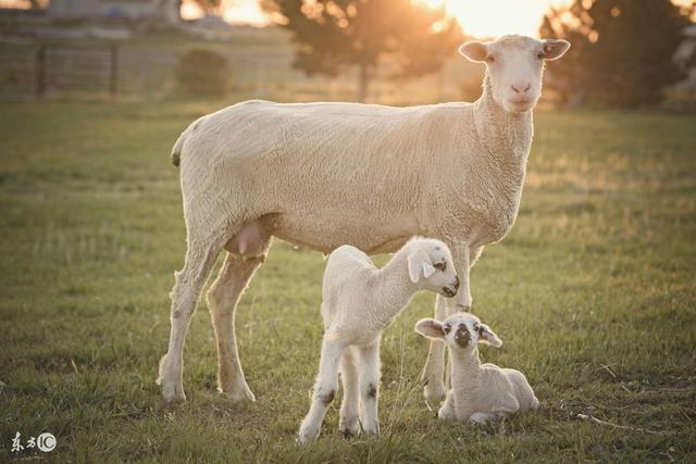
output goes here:
{"type": "Polygon", "coordinates": [[[221,96],[232,89],[232,70],[220,52],[189,50],[179,57],[176,83],[184,93],[221,96]]]}

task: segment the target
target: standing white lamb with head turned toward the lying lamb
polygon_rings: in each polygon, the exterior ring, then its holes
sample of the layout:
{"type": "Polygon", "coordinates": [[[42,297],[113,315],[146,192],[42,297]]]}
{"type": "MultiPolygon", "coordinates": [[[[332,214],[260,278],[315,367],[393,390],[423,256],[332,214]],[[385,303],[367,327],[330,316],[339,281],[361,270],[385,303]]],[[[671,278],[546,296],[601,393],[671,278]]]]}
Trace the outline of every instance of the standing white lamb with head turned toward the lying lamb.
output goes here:
{"type": "Polygon", "coordinates": [[[355,247],[334,251],[324,272],[325,333],[319,375],[299,441],[307,443],[319,436],[334,400],[338,371],[344,385],[340,431],[353,435],[362,426],[365,432],[376,434],[382,331],[417,291],[453,297],[458,288],[451,254],[439,240],[412,239],[381,269],[355,247]]]}

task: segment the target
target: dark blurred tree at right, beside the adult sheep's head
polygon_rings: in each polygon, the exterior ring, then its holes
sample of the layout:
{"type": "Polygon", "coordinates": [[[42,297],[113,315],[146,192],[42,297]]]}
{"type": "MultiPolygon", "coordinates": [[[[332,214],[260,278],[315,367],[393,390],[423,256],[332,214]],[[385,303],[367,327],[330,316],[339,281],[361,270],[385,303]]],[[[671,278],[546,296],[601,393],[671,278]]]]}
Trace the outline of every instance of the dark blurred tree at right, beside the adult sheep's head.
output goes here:
{"type": "Polygon", "coordinates": [[[672,54],[693,8],[670,0],[575,0],[551,9],[539,35],[572,47],[549,63],[549,87],[572,103],[659,102],[662,89],[679,78],[672,54]]]}

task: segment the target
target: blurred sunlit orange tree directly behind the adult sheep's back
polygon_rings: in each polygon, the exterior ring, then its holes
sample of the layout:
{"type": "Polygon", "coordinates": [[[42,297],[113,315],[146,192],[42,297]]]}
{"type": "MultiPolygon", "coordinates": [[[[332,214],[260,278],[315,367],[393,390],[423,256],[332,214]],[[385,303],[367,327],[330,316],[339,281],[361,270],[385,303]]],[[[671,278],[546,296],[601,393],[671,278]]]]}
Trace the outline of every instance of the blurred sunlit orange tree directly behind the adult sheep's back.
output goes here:
{"type": "Polygon", "coordinates": [[[262,0],[283,27],[293,32],[294,67],[308,75],[337,76],[359,70],[358,100],[368,96],[371,74],[383,55],[398,72],[419,77],[438,71],[461,40],[457,22],[444,7],[423,0],[262,0]]]}

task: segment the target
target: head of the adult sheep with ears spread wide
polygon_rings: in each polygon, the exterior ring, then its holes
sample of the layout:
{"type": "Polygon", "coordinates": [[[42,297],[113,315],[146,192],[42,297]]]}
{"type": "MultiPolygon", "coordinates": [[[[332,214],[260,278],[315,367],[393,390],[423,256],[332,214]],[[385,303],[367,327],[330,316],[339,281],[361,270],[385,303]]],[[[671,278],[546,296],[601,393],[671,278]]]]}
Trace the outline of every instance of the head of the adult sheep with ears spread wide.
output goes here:
{"type": "Polygon", "coordinates": [[[569,47],[566,40],[504,36],[490,42],[467,42],[459,52],[486,63],[484,86],[490,86],[496,103],[508,112],[524,113],[542,95],[544,62],[558,60],[569,47]]]}

